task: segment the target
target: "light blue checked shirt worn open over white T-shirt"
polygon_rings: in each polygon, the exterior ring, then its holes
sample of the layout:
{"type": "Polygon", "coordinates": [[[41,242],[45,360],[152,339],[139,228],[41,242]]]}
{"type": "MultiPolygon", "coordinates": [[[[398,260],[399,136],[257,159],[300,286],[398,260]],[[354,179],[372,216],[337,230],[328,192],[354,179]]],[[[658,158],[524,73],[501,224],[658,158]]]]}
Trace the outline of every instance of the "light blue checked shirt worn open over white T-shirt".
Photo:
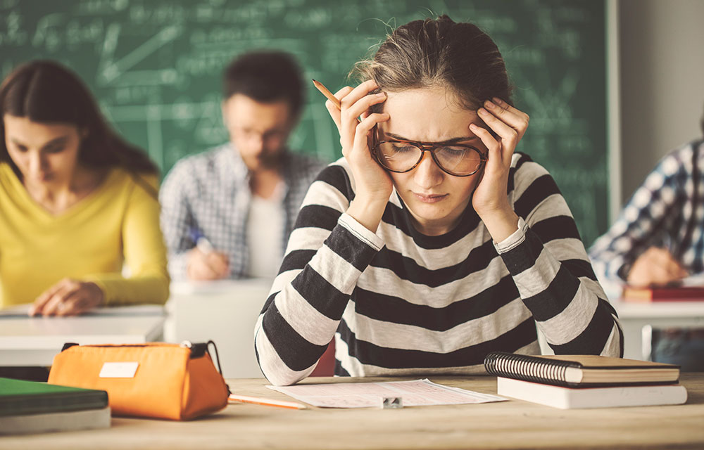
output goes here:
{"type": "MultiPolygon", "coordinates": [[[[315,176],[325,167],[303,155],[285,153],[283,167],[284,232],[277,236],[282,255],[298,208],[315,176]]],[[[169,250],[169,272],[186,278],[187,255],[194,248],[192,231],[206,236],[227,255],[230,278],[244,278],[249,267],[246,236],[252,193],[249,169],[232,144],[189,156],[174,165],[159,194],[161,229],[169,250]]]]}

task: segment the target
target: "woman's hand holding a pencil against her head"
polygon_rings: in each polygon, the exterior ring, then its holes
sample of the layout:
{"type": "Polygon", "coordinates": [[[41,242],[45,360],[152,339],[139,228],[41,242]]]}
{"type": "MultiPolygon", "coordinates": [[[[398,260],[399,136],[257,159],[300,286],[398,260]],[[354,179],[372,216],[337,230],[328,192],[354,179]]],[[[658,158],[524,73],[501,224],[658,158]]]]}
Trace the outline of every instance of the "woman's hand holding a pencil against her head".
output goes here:
{"type": "Polygon", "coordinates": [[[371,231],[377,230],[394,189],[391,176],[372,158],[369,148],[375,125],[389,120],[386,113],[369,113],[372,105],[386,100],[383,92],[368,95],[378,88],[374,80],[367,80],[356,88],[345,86],[335,94],[341,110],[332,101],[325,102],[340,133],[342,155],[350,165],[356,185],[355,199],[347,213],[371,231]],[[360,116],[362,121],[358,122],[360,116]]]}

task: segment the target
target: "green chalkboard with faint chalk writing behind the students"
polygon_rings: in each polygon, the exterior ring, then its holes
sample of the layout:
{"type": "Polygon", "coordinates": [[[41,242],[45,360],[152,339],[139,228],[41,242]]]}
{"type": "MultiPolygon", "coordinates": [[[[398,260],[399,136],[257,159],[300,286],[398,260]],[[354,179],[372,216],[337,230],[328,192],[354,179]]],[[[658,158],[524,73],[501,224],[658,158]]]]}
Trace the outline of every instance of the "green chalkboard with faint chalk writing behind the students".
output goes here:
{"type": "MultiPolygon", "coordinates": [[[[591,243],[608,212],[604,0],[0,0],[0,72],[33,58],[70,66],[165,173],[227,141],[220,74],[239,53],[290,51],[335,90],[392,27],[441,13],[498,44],[531,117],[520,150],[550,170],[591,243]]],[[[307,99],[291,147],[332,161],[337,129],[318,91],[307,99]]]]}

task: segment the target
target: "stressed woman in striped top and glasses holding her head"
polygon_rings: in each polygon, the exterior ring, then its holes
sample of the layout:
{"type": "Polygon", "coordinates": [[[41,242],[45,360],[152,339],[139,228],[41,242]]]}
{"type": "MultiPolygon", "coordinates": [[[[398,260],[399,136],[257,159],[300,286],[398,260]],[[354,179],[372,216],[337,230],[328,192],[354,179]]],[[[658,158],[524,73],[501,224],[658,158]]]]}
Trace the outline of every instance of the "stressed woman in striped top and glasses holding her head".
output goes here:
{"type": "Polygon", "coordinates": [[[275,384],[327,343],[337,375],[481,373],[492,351],[622,353],[614,309],[501,54],[447,16],[399,27],[327,108],[344,158],[310,186],[256,326],[275,384]],[[361,117],[358,122],[357,117],[361,117]]]}

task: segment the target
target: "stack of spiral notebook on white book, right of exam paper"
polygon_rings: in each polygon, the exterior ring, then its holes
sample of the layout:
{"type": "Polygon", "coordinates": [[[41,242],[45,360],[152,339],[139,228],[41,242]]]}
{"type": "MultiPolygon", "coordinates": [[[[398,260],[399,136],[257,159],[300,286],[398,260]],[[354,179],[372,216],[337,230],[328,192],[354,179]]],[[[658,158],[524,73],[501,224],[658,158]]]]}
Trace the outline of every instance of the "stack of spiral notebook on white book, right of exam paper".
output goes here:
{"type": "Polygon", "coordinates": [[[683,404],[679,366],[594,355],[492,352],[484,366],[497,393],[560,409],[683,404]]]}

